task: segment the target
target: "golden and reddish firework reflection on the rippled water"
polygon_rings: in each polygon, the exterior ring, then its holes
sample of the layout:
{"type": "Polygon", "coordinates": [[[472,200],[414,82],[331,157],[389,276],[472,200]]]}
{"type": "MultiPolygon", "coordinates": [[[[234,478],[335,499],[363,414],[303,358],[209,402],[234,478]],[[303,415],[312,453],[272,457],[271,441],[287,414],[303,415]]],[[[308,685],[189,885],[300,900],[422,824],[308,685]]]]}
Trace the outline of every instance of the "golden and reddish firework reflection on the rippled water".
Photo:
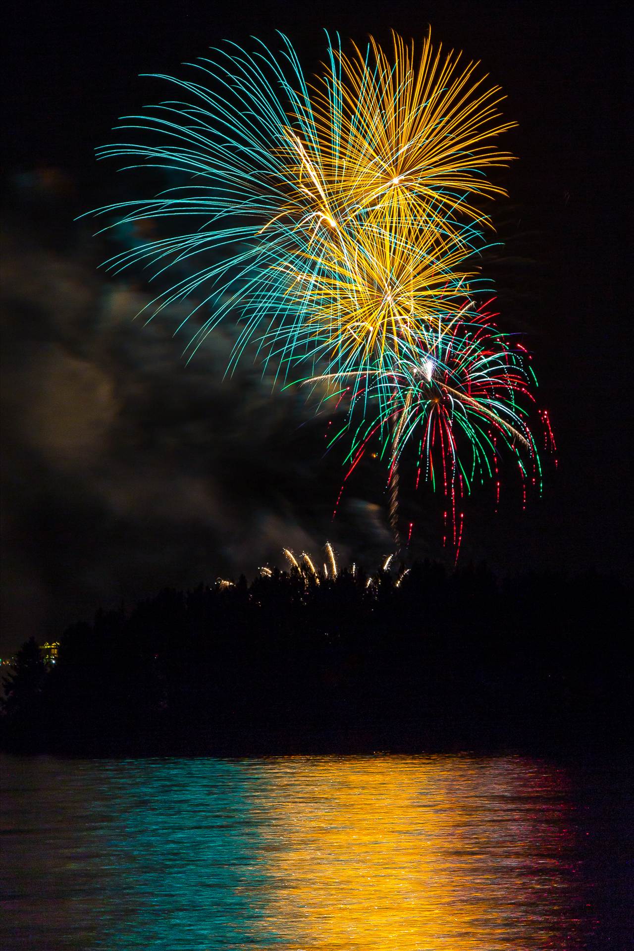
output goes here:
{"type": "Polygon", "coordinates": [[[284,947],[568,946],[556,769],[519,758],[330,757],[278,761],[274,773],[261,927],[284,947]]]}

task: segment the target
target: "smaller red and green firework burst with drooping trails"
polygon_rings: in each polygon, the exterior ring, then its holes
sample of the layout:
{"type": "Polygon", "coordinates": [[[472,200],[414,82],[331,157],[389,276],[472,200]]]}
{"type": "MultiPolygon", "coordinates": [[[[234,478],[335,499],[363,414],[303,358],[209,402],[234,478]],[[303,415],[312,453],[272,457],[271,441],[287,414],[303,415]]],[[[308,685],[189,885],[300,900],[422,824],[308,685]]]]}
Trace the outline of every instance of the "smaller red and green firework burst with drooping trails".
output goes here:
{"type": "Polygon", "coordinates": [[[457,505],[475,481],[485,478],[494,480],[499,499],[498,459],[504,449],[515,456],[523,482],[530,480],[541,491],[541,461],[530,427],[530,355],[501,334],[482,310],[467,302],[452,320],[430,326],[415,345],[401,341],[397,355],[390,351],[389,366],[361,376],[344,373],[304,380],[313,386],[327,384],[324,400],[348,398],[343,424],[331,437],[332,445],[352,433],[346,479],[376,443],[378,455],[387,458],[397,544],[398,466],[411,445],[415,487],[423,478],[450,501],[456,557],[462,521],[457,505]]]}

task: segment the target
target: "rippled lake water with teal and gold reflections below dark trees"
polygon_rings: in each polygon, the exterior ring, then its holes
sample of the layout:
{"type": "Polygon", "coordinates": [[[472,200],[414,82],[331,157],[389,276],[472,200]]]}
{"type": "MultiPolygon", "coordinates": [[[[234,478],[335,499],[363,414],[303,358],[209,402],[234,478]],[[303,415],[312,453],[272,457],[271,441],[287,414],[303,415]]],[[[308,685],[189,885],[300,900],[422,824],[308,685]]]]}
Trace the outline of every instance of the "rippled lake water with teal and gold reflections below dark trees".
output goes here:
{"type": "Polygon", "coordinates": [[[512,756],[2,767],[3,951],[634,946],[622,773],[512,756]]]}

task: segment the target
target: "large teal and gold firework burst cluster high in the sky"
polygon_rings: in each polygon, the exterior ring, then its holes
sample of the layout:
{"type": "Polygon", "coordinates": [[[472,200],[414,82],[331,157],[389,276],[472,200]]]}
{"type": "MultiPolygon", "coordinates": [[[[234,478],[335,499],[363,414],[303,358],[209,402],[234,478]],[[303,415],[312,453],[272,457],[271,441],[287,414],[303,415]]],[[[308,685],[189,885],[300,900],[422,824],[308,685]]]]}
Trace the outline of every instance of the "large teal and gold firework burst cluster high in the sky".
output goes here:
{"type": "MultiPolygon", "coordinates": [[[[188,179],[154,199],[100,209],[118,223],[169,219],[176,231],[115,256],[114,270],[144,263],[159,274],[204,262],[149,302],[148,315],[198,298],[192,313],[212,313],[189,355],[231,317],[241,320],[232,363],[255,340],[286,372],[307,346],[313,353],[310,324],[323,322],[316,308],[327,323],[339,313],[350,323],[341,301],[350,309],[357,281],[375,324],[371,349],[421,295],[433,312],[448,279],[460,280],[457,265],[482,247],[478,225],[488,220],[469,196],[500,192],[483,172],[510,156],[492,144],[509,126],[498,122],[498,88],[483,90],[474,64],[458,68],[459,56],[434,52],[429,39],[416,61],[395,36],[393,63],[374,40],[352,56],[330,43],[328,66],[310,84],[282,41],[278,57],[227,45],[193,64],[193,79],[161,76],[187,98],[128,117],[119,128],[136,141],[99,156],[188,179]]],[[[338,327],[331,336],[336,353],[338,327]]],[[[346,345],[340,359],[353,359],[346,345]]]]}

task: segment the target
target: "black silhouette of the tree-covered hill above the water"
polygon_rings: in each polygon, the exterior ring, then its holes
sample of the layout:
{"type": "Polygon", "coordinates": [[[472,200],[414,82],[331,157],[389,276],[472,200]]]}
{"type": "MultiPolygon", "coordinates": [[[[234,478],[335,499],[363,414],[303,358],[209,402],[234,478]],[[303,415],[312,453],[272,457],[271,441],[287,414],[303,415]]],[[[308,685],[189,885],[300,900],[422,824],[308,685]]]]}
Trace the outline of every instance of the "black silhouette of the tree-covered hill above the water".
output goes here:
{"type": "Polygon", "coordinates": [[[164,590],[34,641],[3,745],[77,755],[557,752],[626,744],[629,593],[613,577],[414,564],[164,590]]]}

